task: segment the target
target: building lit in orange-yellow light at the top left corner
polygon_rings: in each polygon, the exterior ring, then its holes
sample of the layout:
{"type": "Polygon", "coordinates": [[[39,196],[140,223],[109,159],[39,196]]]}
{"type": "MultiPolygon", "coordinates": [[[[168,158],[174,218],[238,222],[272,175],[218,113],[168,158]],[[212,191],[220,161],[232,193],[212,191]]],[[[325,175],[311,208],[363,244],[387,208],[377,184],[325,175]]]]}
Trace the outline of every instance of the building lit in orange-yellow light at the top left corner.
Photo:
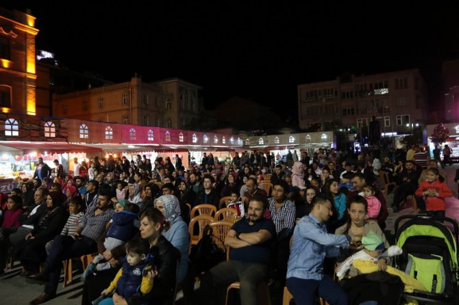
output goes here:
{"type": "Polygon", "coordinates": [[[36,115],[35,17],[0,8],[0,111],[36,115]]]}

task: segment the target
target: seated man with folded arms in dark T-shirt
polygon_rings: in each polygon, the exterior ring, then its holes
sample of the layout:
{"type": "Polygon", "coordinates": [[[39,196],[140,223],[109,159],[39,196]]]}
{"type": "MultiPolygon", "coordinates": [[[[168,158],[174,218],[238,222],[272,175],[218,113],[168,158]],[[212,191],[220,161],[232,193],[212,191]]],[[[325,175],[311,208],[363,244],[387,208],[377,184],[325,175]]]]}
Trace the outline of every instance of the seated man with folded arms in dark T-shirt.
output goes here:
{"type": "Polygon", "coordinates": [[[239,281],[241,304],[258,304],[256,287],[268,275],[271,246],[276,236],[273,221],[263,217],[267,208],[266,198],[253,196],[250,199],[249,217],[236,222],[225,238],[225,246],[231,248],[229,261],[210,269],[201,281],[201,302],[221,304],[215,300],[216,291],[226,291],[229,284],[239,281]]]}

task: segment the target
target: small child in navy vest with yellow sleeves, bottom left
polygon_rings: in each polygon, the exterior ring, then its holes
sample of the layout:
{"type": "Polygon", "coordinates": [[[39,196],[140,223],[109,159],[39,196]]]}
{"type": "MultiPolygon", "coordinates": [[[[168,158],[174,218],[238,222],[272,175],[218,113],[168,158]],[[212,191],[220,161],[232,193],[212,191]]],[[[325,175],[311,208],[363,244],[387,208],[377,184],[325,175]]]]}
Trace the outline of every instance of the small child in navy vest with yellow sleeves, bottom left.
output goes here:
{"type": "MultiPolygon", "coordinates": [[[[148,254],[150,245],[145,239],[132,239],[127,241],[126,258],[123,267],[118,271],[114,280],[101,295],[106,296],[116,289],[121,297],[128,298],[134,293],[149,293],[153,288],[153,278],[158,274],[153,265],[153,256],[148,254]],[[148,255],[147,255],[148,254],[148,255]]],[[[112,297],[107,297],[100,305],[113,304],[112,297]]]]}

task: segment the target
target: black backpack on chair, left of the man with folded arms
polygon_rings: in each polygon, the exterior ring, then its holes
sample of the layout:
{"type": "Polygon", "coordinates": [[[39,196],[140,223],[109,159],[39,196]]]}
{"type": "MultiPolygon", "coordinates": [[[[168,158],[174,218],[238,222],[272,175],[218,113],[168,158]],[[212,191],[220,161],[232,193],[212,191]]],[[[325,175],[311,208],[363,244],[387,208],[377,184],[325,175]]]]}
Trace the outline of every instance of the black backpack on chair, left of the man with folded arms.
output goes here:
{"type": "Polygon", "coordinates": [[[216,246],[212,236],[212,228],[207,225],[203,230],[203,237],[191,249],[188,256],[199,272],[209,271],[212,267],[226,260],[225,251],[216,246]]]}

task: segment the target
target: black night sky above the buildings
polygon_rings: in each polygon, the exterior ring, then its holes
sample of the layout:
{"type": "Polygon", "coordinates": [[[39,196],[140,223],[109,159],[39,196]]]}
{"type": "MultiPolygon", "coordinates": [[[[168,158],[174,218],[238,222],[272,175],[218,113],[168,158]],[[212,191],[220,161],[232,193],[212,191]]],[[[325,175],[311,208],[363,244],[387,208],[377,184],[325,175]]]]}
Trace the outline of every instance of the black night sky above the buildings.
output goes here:
{"type": "Polygon", "coordinates": [[[441,62],[459,58],[459,1],[188,2],[0,5],[30,8],[37,48],[62,65],[116,82],[179,77],[203,87],[208,109],[241,96],[297,118],[300,83],[407,68],[421,69],[437,103],[441,62]]]}

